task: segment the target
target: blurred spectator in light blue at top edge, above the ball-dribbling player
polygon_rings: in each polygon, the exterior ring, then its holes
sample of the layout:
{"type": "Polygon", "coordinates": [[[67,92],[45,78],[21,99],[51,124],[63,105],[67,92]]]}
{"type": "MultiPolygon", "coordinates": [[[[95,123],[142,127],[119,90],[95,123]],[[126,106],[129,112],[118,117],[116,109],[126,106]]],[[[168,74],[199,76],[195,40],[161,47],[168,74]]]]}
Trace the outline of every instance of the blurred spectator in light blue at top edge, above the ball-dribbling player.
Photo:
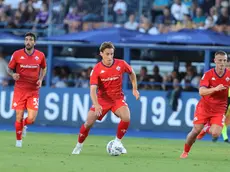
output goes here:
{"type": "Polygon", "coordinates": [[[113,7],[116,23],[123,24],[126,21],[127,4],[124,0],[117,0],[113,7]]]}

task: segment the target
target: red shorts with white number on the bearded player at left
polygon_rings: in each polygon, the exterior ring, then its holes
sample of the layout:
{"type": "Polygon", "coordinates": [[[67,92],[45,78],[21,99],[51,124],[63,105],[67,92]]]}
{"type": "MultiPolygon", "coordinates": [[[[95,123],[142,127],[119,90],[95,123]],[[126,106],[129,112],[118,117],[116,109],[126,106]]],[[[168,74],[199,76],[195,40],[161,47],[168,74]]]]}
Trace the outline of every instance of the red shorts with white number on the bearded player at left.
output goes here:
{"type": "Polygon", "coordinates": [[[33,109],[38,110],[39,92],[38,90],[24,90],[15,88],[14,97],[12,102],[12,109],[25,110],[33,109]]]}

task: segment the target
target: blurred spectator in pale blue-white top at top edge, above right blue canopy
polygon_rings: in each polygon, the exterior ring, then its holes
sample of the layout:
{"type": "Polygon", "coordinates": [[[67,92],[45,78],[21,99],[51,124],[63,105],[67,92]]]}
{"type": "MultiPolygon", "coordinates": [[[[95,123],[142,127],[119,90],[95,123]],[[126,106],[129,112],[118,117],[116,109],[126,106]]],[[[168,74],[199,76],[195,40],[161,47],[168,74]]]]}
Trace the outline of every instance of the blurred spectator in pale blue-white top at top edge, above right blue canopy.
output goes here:
{"type": "Polygon", "coordinates": [[[171,13],[178,21],[182,21],[184,14],[189,14],[187,6],[181,0],[174,0],[171,6],[171,13]]]}

